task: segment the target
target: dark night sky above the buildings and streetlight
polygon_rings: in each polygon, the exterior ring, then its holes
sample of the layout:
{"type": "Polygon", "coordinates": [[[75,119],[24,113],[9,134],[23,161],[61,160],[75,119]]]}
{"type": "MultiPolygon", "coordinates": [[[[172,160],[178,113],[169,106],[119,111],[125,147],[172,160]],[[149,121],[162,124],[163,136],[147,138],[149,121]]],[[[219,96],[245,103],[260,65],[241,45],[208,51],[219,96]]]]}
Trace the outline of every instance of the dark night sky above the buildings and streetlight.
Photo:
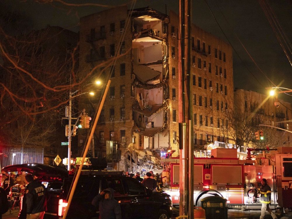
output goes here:
{"type": "MultiPolygon", "coordinates": [[[[39,0],[39,2],[43,1],[45,0],[39,0]]],[[[98,3],[110,6],[118,6],[129,2],[125,0],[64,1],[78,4],[98,3]]],[[[282,27],[282,33],[286,34],[291,45],[292,1],[265,0],[265,2],[268,2],[274,11],[282,27]]],[[[165,4],[167,5],[167,11],[173,10],[178,13],[178,0],[137,0],[135,8],[150,6],[165,13],[165,4]]],[[[226,42],[230,41],[234,47],[234,88],[267,94],[265,87],[274,86],[272,85],[272,83],[274,83],[277,86],[292,89],[292,66],[260,6],[260,1],[194,0],[192,4],[193,23],[226,42]],[[215,21],[207,4],[227,38],[215,21]],[[248,56],[236,36],[240,39],[256,64],[248,56]],[[258,69],[256,65],[258,65],[260,69],[258,69]]],[[[28,29],[30,27],[41,29],[47,25],[51,25],[60,26],[75,32],[79,30],[78,23],[80,17],[105,9],[107,8],[97,6],[68,7],[56,2],[52,4],[42,4],[32,0],[2,0],[0,3],[0,10],[12,10],[20,13],[27,22],[28,29]]],[[[291,51],[292,48],[290,46],[290,52],[288,49],[287,52],[292,59],[291,51]]],[[[292,103],[292,96],[279,94],[279,98],[292,103]]]]}

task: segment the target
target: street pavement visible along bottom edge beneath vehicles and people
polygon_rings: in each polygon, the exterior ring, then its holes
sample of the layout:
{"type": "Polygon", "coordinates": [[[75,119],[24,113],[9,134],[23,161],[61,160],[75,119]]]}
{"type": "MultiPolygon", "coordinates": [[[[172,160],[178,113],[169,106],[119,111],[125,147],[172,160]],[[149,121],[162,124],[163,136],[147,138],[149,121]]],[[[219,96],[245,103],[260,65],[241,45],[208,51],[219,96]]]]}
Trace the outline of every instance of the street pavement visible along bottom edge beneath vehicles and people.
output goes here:
{"type": "MultiPolygon", "coordinates": [[[[179,210],[173,209],[173,217],[171,219],[175,219],[179,215],[179,210]]],[[[292,219],[292,212],[286,211],[284,214],[280,212],[276,212],[278,219],[292,219]]],[[[17,219],[18,218],[18,210],[9,211],[2,215],[3,219],[17,219]]],[[[260,211],[238,211],[238,210],[229,210],[228,211],[228,219],[259,219],[260,211]]],[[[213,219],[213,218],[212,218],[213,219]]],[[[272,216],[266,212],[265,219],[272,219],[272,216]]]]}

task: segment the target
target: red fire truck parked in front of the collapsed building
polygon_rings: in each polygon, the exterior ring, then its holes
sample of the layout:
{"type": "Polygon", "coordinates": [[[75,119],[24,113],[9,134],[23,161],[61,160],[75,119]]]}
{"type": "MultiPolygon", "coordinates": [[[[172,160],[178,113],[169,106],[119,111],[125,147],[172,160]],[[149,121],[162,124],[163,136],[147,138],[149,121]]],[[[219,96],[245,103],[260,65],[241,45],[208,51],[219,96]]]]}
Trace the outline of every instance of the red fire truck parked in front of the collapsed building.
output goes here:
{"type": "MultiPolygon", "coordinates": [[[[201,199],[218,195],[227,199],[229,208],[260,209],[257,189],[262,178],[271,187],[270,208],[292,207],[292,147],[280,147],[246,159],[237,158],[236,149],[216,148],[211,157],[194,157],[194,205],[201,206],[201,199]]],[[[258,150],[258,149],[256,149],[258,150]]],[[[179,205],[179,157],[164,158],[162,181],[168,185],[166,192],[173,205],[179,205]]]]}

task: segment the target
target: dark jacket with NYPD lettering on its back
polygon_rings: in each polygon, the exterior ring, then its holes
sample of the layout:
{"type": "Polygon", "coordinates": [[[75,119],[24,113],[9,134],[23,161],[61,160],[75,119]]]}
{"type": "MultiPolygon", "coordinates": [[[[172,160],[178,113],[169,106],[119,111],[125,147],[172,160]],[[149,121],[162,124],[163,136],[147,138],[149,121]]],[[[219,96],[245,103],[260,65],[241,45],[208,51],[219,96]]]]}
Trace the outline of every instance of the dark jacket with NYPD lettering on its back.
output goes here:
{"type": "Polygon", "coordinates": [[[47,190],[35,180],[29,183],[25,191],[27,214],[35,214],[47,210],[47,190]]]}

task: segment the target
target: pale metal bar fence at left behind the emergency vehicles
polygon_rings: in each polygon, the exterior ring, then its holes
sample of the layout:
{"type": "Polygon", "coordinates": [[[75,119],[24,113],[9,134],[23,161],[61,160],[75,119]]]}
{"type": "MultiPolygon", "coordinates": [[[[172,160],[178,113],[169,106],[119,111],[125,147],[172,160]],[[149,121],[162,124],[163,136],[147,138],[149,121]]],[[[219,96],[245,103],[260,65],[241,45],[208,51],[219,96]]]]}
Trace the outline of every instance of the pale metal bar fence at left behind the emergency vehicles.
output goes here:
{"type": "Polygon", "coordinates": [[[1,167],[14,164],[44,163],[44,148],[8,147],[0,149],[1,167]]]}

